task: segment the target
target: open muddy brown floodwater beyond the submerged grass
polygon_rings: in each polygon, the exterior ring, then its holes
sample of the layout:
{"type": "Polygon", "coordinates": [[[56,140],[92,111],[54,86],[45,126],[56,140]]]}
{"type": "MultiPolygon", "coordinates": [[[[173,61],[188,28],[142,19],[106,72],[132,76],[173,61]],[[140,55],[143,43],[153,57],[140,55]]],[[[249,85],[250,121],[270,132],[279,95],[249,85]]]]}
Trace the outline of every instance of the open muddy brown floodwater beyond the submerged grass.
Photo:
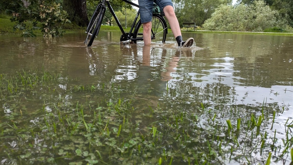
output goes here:
{"type": "MultiPolygon", "coordinates": [[[[274,105],[283,111],[276,116],[274,122],[278,124],[274,128],[263,130],[272,136],[276,129],[284,129],[285,123],[293,120],[292,36],[188,32],[182,35],[185,39],[193,37],[195,44],[180,49],[173,35],[167,34],[165,44],[123,45],[118,42],[117,31],[100,32],[91,47],[84,46],[83,33],[55,38],[0,36],[0,74],[45,70],[62,75],[71,86],[114,83],[124,91],[120,97],[133,99],[132,104],[141,110],[138,114],[158,105],[170,110],[180,107],[187,112],[201,103],[208,109],[220,105],[274,105]],[[135,96],[128,94],[133,91],[135,96]]],[[[56,91],[60,95],[69,90],[66,84],[58,84],[56,91]]],[[[70,97],[79,99],[78,95],[70,97]]],[[[36,105],[42,107],[46,101],[45,96],[31,98],[39,101],[24,102],[28,111],[35,110],[36,105]]],[[[7,105],[13,101],[2,99],[0,103],[1,116],[9,114],[7,109],[11,107],[7,105]]],[[[241,113],[250,116],[251,111],[241,113]]],[[[223,123],[228,116],[229,113],[222,114],[223,123]]],[[[275,136],[282,139],[285,132],[277,131],[275,136]]],[[[262,155],[252,157],[257,160],[262,155]]],[[[285,164],[290,164],[289,156],[284,159],[285,164]]]]}

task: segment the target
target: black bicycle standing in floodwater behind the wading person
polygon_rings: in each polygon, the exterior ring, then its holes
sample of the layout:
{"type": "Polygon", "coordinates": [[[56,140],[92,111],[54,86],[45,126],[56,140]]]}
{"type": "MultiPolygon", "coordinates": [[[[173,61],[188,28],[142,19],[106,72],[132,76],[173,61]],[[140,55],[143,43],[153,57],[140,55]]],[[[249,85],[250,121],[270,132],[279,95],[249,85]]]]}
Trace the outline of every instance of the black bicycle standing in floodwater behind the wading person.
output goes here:
{"type": "MultiPolygon", "coordinates": [[[[137,4],[129,0],[122,0],[122,1],[125,1],[126,3],[129,3],[139,8],[137,4]]],[[[142,36],[143,28],[142,28],[141,20],[137,22],[138,16],[139,16],[139,10],[135,16],[135,19],[132,23],[129,33],[126,33],[123,30],[111,4],[109,3],[109,0],[102,0],[102,2],[97,5],[97,8],[94,11],[93,16],[91,17],[88,27],[86,28],[87,37],[86,37],[86,40],[84,41],[86,46],[91,46],[92,43],[94,42],[94,38],[98,35],[102,21],[103,21],[103,17],[106,11],[106,6],[109,8],[110,12],[112,13],[112,16],[114,17],[115,21],[117,22],[117,25],[120,28],[120,31],[122,32],[122,35],[120,37],[121,43],[130,43],[130,42],[137,43],[138,41],[144,40],[142,36]]],[[[163,11],[161,11],[158,5],[154,3],[153,14],[152,14],[151,39],[156,41],[162,41],[162,43],[165,43],[168,30],[167,30],[166,20],[164,19],[163,16],[164,16],[163,11]]]]}

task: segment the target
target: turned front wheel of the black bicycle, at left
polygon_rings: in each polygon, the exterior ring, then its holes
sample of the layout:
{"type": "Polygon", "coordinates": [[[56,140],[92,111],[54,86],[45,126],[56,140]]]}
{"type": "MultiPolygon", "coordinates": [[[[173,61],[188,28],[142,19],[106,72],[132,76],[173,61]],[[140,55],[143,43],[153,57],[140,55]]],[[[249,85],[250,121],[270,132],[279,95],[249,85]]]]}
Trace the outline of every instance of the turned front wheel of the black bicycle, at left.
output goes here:
{"type": "Polygon", "coordinates": [[[86,40],[84,41],[86,46],[91,46],[92,43],[94,42],[94,38],[96,37],[96,35],[98,35],[105,10],[106,9],[104,7],[99,6],[96,12],[94,13],[93,17],[91,18],[88,31],[86,32],[87,33],[86,40]]]}

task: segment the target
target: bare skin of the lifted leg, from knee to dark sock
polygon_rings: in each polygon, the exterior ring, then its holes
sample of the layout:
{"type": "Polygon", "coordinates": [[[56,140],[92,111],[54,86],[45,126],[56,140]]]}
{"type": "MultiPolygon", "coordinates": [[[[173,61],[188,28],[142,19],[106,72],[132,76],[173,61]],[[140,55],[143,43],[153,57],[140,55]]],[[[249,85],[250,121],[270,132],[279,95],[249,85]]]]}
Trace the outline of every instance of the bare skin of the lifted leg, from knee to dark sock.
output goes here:
{"type": "Polygon", "coordinates": [[[164,7],[163,11],[164,11],[166,18],[169,21],[169,24],[170,24],[171,30],[174,34],[174,37],[176,38],[177,36],[181,36],[179,22],[178,22],[178,19],[176,17],[176,14],[174,12],[173,7],[170,5],[166,6],[166,7],[164,7]]]}

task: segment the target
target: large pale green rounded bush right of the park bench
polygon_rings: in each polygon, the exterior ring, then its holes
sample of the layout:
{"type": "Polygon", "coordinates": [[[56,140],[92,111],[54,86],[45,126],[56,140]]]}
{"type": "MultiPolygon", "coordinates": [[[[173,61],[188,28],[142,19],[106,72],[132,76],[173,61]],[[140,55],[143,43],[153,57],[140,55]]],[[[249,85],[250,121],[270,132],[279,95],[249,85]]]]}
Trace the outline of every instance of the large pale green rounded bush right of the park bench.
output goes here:
{"type": "Polygon", "coordinates": [[[284,28],[286,20],[280,18],[276,10],[265,4],[264,1],[254,1],[251,5],[239,4],[220,5],[205,21],[205,30],[217,31],[263,31],[267,28],[284,28]]]}

